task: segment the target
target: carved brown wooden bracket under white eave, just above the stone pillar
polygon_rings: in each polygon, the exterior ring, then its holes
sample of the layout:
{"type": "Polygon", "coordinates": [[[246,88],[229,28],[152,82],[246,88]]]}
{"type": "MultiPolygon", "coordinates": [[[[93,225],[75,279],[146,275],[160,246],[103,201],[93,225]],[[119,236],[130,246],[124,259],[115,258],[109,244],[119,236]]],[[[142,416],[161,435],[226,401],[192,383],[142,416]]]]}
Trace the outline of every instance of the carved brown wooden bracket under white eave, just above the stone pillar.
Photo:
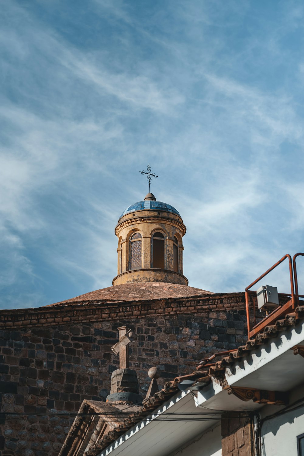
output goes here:
{"type": "Polygon", "coordinates": [[[243,401],[253,400],[258,404],[278,404],[285,405],[288,403],[288,394],[282,391],[267,391],[256,388],[242,388],[231,386],[228,394],[234,394],[238,399],[243,401]]]}

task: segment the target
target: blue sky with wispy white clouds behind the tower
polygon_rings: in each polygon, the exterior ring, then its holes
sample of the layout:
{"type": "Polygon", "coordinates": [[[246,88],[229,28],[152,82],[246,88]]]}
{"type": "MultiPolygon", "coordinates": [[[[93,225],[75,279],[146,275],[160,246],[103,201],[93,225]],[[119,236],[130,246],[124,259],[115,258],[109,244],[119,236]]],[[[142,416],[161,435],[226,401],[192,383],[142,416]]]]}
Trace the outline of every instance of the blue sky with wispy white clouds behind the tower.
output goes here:
{"type": "MultiPolygon", "coordinates": [[[[148,164],[190,286],[304,251],[302,1],[3,0],[0,22],[0,308],[112,285],[148,164]]],[[[288,293],[288,264],[266,282],[288,293]]]]}

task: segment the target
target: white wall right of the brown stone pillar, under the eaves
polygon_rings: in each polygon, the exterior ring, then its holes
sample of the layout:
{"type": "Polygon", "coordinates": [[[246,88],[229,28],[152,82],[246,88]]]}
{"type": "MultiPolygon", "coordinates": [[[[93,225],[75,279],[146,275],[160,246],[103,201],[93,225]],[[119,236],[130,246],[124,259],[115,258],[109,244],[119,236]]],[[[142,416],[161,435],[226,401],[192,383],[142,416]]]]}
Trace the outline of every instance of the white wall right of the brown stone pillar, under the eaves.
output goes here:
{"type": "MultiPolygon", "coordinates": [[[[291,395],[289,403],[304,397],[304,388],[297,389],[291,395]]],[[[278,406],[266,406],[261,410],[261,417],[271,415],[282,409],[278,406]]],[[[276,418],[265,421],[262,427],[263,456],[297,456],[297,435],[304,434],[304,405],[276,418]]]]}

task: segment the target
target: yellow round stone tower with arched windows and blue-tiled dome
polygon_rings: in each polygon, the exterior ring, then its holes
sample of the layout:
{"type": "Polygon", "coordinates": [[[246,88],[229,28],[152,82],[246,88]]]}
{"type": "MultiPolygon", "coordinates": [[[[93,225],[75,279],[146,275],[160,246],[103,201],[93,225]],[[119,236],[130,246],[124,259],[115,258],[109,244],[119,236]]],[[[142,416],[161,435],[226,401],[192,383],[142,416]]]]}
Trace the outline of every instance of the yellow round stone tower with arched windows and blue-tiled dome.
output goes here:
{"type": "Polygon", "coordinates": [[[183,275],[186,227],[170,204],[152,193],[127,207],[115,227],[118,237],[118,275],[113,285],[167,282],[188,285],[183,275]]]}

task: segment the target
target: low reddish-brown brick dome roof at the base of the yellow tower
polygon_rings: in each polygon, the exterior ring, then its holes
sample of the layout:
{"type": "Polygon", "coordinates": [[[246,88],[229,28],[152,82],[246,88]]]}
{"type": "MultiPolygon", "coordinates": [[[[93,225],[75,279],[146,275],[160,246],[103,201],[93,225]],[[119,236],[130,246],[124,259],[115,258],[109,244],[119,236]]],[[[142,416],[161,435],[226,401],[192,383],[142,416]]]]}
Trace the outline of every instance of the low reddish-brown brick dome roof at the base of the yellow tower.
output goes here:
{"type": "Polygon", "coordinates": [[[169,284],[164,282],[142,282],[109,286],[101,290],[90,291],[85,295],[76,296],[59,304],[77,303],[83,301],[143,301],[149,299],[189,298],[192,296],[211,295],[211,291],[193,288],[188,285],[169,284]]]}

